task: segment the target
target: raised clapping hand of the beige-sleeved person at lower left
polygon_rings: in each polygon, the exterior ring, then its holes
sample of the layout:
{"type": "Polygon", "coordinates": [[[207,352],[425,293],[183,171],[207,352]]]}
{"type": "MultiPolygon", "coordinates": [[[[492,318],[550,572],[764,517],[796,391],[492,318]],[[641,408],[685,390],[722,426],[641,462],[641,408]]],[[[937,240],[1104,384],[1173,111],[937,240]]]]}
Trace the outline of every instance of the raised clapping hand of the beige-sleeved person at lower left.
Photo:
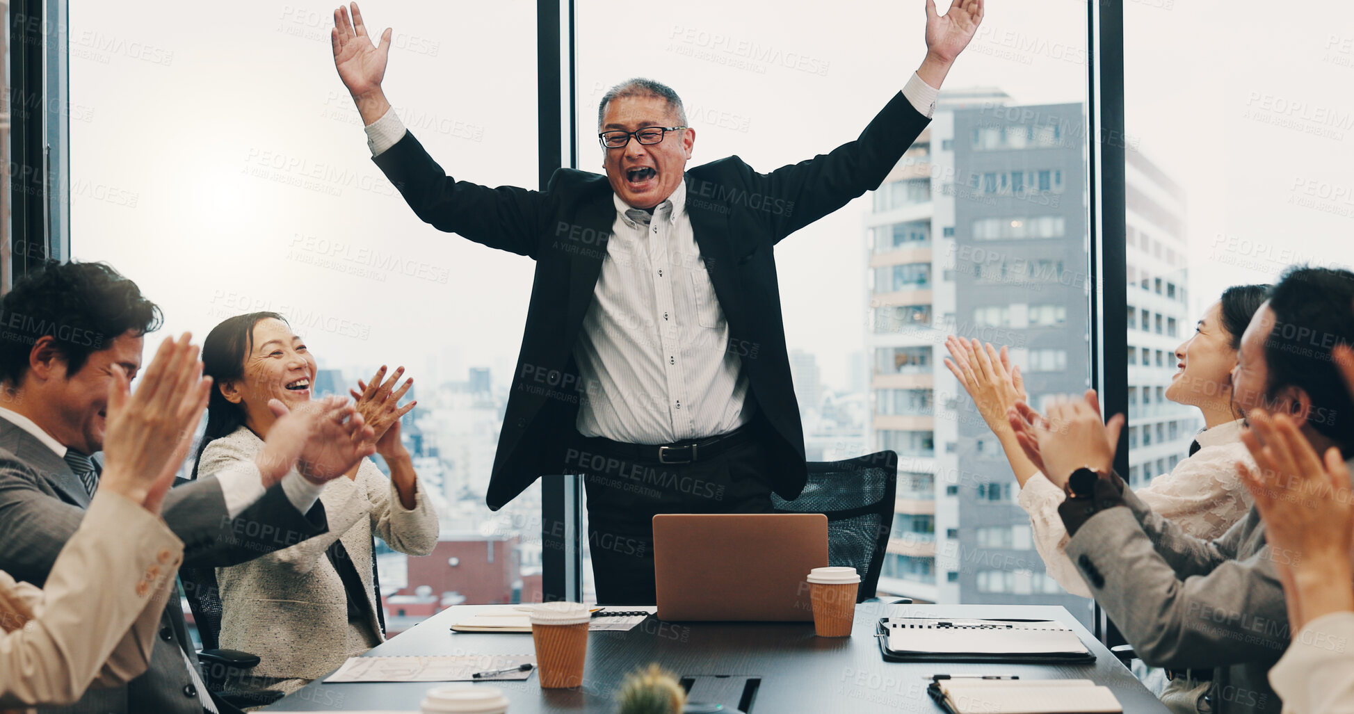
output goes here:
{"type": "Polygon", "coordinates": [[[211,378],[202,377],[198,347],[190,340],[184,332],[177,340],[160,343],[134,394],[119,366],[114,366],[108,385],[99,488],[121,493],[152,513],[160,512],[211,394],[211,378]]]}

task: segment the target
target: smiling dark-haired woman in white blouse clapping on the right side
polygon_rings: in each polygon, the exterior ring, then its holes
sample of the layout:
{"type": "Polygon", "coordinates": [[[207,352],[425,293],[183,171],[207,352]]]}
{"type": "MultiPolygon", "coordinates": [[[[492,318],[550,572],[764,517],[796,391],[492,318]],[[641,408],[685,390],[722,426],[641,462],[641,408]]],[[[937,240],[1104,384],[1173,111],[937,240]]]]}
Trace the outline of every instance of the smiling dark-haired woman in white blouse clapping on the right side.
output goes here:
{"type": "MultiPolygon", "coordinates": [[[[1154,478],[1135,493],[1162,518],[1178,523],[1189,535],[1213,539],[1250,511],[1251,495],[1236,476],[1236,465],[1254,465],[1242,443],[1243,415],[1232,406],[1232,367],[1242,333],[1265,302],[1269,286],[1229,287],[1221,299],[1204,310],[1194,335],[1175,348],[1178,371],[1166,387],[1166,398],[1198,408],[1205,431],[1170,473],[1154,478]]],[[[1025,455],[1006,421],[1006,411],[1025,401],[1020,367],[1013,367],[1006,348],[949,337],[945,347],[953,359],[945,366],[979,405],[983,420],[997,435],[1020,482],[1018,503],[1029,513],[1034,549],[1049,577],[1067,592],[1090,597],[1080,572],[1064,553],[1067,528],[1057,515],[1063,484],[1055,484],[1025,455]]]]}

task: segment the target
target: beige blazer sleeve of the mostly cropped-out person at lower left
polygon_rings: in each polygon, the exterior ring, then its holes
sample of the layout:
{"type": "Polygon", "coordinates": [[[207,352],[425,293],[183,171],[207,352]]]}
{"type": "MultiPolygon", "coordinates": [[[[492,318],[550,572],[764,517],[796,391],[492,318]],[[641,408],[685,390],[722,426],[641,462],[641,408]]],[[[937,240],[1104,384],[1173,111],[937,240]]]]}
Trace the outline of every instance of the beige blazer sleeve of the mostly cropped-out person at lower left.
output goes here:
{"type": "Polygon", "coordinates": [[[0,627],[0,709],[69,705],[145,672],[181,562],[183,542],[164,520],[97,490],[46,588],[0,572],[0,588],[34,614],[0,627]]]}

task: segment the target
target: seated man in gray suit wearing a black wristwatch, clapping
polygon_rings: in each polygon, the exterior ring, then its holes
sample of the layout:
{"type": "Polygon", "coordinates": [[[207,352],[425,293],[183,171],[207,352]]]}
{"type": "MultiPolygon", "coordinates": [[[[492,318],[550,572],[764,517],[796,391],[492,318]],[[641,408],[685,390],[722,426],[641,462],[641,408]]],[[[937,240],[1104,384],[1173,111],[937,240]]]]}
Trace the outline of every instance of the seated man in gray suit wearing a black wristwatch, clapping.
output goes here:
{"type": "MultiPolygon", "coordinates": [[[[1288,270],[1242,335],[1232,371],[1243,412],[1282,413],[1316,453],[1335,446],[1346,458],[1354,398],[1331,350],[1354,344],[1351,303],[1354,274],[1288,270]]],[[[1163,694],[1173,710],[1277,714],[1266,675],[1292,637],[1277,565],[1298,555],[1270,547],[1254,507],[1216,541],[1154,513],[1112,471],[1118,431],[1106,429],[1094,393],[1087,397],[1055,404],[1033,423],[1013,419],[1022,442],[1037,442],[1044,473],[1067,484],[1059,507],[1067,555],[1136,654],[1174,671],[1163,694]]],[[[1244,439],[1254,450],[1254,436],[1244,439]]]]}

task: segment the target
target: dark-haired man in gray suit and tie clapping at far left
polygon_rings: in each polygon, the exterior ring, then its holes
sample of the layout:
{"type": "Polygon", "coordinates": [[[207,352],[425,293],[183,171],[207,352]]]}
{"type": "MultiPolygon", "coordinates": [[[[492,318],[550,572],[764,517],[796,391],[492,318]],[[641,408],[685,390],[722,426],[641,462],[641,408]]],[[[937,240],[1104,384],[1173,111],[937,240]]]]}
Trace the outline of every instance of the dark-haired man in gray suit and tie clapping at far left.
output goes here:
{"type": "MultiPolygon", "coordinates": [[[[158,308],[102,263],[51,264],[0,301],[0,570],[15,580],[42,587],[79,528],[99,482],[108,383],[114,370],[137,374],[145,333],[158,324],[158,308]]],[[[359,419],[351,424],[371,435],[359,419]]],[[[313,467],[305,477],[250,466],[172,489],[162,516],[184,543],[183,562],[234,565],[324,532],[320,490],[367,453],[356,440],[347,451],[338,442],[307,443],[302,458],[313,467]]],[[[145,675],[43,711],[237,710],[203,687],[171,599],[145,675]]]]}

